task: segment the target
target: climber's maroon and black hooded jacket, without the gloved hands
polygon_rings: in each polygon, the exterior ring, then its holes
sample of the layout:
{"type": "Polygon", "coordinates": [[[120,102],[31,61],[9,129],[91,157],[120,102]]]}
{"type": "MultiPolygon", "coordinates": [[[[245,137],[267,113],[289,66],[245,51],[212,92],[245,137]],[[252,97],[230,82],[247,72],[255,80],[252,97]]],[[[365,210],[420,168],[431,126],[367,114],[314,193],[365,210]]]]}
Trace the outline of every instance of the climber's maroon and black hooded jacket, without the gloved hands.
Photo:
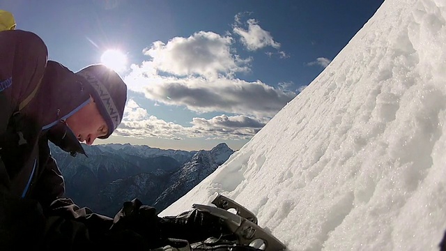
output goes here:
{"type": "Polygon", "coordinates": [[[48,138],[88,104],[89,86],[47,61],[45,43],[31,32],[1,31],[0,59],[0,250],[58,239],[82,245],[113,220],[63,197],[48,138]]]}

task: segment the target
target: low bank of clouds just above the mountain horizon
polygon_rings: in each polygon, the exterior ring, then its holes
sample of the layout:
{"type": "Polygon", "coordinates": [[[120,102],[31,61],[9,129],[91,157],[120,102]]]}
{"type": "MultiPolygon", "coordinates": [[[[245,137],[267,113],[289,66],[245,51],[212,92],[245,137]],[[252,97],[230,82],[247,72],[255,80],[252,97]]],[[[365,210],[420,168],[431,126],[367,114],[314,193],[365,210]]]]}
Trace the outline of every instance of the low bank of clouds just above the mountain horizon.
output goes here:
{"type": "Polygon", "coordinates": [[[190,127],[149,116],[146,109],[129,100],[117,135],[145,138],[184,139],[204,137],[207,139],[249,139],[254,136],[268,119],[249,116],[215,116],[212,119],[193,118],[190,127]]]}

